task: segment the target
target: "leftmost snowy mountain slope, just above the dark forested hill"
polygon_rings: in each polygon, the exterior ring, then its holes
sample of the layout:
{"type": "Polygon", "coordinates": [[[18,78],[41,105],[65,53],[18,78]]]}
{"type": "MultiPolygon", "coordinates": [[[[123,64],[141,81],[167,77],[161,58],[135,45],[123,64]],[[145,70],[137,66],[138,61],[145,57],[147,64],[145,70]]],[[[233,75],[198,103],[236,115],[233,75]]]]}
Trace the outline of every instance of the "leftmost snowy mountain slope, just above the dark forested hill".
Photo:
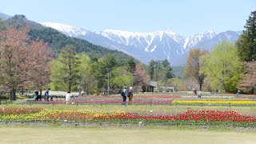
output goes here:
{"type": "Polygon", "coordinates": [[[55,30],[61,31],[62,33],[70,36],[70,37],[76,37],[78,35],[85,35],[87,30],[75,27],[75,26],[70,26],[70,25],[65,25],[62,23],[57,23],[57,22],[39,22],[43,26],[51,27],[55,30]]]}

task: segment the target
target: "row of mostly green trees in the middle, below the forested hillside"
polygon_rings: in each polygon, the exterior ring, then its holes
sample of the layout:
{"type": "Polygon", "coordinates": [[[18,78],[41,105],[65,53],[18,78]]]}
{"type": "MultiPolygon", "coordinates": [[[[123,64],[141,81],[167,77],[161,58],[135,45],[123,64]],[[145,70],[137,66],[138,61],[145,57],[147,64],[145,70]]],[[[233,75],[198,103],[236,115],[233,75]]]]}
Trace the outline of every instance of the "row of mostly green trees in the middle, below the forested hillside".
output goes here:
{"type": "Polygon", "coordinates": [[[122,86],[138,86],[147,83],[145,67],[128,58],[120,63],[114,54],[102,58],[90,58],[77,54],[75,47],[68,45],[59,57],[51,62],[51,83],[53,90],[82,90],[86,92],[118,93],[122,86]],[[108,88],[108,86],[110,86],[108,88]]]}

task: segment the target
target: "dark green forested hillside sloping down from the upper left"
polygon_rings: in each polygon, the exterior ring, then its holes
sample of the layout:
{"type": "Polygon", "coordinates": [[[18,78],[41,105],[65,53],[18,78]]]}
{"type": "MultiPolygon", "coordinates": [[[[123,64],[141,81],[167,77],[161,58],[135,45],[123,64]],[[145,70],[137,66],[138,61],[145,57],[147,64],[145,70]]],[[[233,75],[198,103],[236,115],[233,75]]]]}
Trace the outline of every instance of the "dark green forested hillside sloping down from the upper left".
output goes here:
{"type": "Polygon", "coordinates": [[[118,61],[124,63],[127,61],[127,58],[130,57],[118,50],[109,50],[102,46],[96,46],[80,38],[67,37],[65,34],[58,32],[58,30],[54,30],[52,28],[42,26],[37,22],[28,20],[24,15],[15,15],[14,17],[7,19],[5,22],[2,22],[2,24],[4,23],[11,26],[16,25],[17,28],[30,26],[30,38],[40,38],[43,39],[44,42],[48,42],[49,49],[52,50],[54,58],[58,58],[60,50],[66,45],[73,45],[76,48],[77,53],[84,52],[94,58],[101,58],[107,54],[114,54],[118,61]]]}

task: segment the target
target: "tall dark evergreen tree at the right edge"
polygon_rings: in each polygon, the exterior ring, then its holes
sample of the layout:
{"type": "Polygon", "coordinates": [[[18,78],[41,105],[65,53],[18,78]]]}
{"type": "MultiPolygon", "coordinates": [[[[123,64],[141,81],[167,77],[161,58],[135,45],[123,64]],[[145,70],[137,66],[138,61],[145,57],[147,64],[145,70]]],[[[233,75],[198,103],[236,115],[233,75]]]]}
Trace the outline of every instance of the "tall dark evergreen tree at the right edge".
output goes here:
{"type": "Polygon", "coordinates": [[[256,61],[256,10],[251,12],[246,21],[246,30],[240,35],[236,46],[242,61],[256,61]]]}

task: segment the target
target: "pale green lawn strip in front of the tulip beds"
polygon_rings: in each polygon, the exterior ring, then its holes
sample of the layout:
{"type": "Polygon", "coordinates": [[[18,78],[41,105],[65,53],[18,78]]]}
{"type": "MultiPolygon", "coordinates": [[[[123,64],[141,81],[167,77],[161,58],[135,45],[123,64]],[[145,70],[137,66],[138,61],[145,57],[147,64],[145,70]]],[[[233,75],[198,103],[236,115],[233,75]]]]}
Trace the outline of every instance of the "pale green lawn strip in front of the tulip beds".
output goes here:
{"type": "Polygon", "coordinates": [[[0,126],[0,143],[256,143],[254,130],[182,127],[0,126]]]}

